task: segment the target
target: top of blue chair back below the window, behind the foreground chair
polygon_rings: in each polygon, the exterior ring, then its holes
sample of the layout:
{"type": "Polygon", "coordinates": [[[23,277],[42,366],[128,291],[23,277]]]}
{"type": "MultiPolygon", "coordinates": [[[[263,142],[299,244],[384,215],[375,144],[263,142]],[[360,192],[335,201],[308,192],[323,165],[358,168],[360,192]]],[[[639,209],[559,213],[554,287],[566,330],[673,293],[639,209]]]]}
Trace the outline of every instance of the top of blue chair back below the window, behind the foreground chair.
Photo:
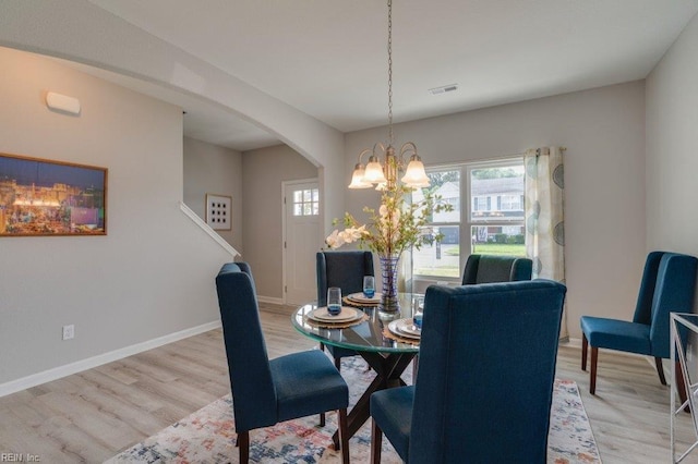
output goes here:
{"type": "Polygon", "coordinates": [[[462,272],[462,284],[531,280],[533,261],[517,256],[470,255],[462,272]]]}

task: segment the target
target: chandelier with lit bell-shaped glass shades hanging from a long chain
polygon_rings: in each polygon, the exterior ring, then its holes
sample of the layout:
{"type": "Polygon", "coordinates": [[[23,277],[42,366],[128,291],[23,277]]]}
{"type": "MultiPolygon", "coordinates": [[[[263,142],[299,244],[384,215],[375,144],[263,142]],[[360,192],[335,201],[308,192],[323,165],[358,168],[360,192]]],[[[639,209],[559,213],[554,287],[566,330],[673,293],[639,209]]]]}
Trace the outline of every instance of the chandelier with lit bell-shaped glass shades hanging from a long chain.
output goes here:
{"type": "Polygon", "coordinates": [[[351,175],[351,184],[349,188],[371,188],[376,190],[394,190],[397,186],[398,175],[405,171],[405,175],[400,182],[410,188],[428,187],[429,178],[424,171],[422,159],[417,154],[417,145],[407,142],[400,148],[399,155],[396,154],[393,144],[395,143],[393,135],[393,1],[388,0],[388,146],[385,147],[381,142],[373,146],[373,149],[366,148],[359,154],[359,162],[353,169],[351,175]],[[380,151],[378,151],[380,150],[380,151]],[[383,163],[381,163],[378,155],[383,152],[383,163]],[[371,154],[369,163],[364,167],[361,158],[371,154]],[[411,154],[409,163],[405,168],[405,156],[411,154]]]}

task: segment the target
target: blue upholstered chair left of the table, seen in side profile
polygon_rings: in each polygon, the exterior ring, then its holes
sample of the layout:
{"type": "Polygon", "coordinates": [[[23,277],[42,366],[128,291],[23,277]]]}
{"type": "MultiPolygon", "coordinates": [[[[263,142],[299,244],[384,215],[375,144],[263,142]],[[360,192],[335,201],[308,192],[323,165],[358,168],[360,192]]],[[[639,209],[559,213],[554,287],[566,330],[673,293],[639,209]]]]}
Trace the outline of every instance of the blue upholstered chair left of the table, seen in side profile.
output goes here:
{"type": "Polygon", "coordinates": [[[240,462],[249,462],[250,430],[337,410],[342,462],[348,463],[349,389],[332,361],[318,350],[269,361],[248,264],[224,265],[216,288],[240,462]]]}

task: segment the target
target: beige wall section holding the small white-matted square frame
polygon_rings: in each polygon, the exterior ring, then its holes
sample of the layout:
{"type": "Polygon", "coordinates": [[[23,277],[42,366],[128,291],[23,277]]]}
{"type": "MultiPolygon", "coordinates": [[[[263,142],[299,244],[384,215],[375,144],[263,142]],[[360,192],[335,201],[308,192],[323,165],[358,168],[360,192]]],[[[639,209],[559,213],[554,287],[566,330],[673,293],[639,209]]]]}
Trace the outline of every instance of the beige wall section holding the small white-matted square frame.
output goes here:
{"type": "Polygon", "coordinates": [[[242,154],[184,137],[184,203],[206,219],[206,194],[232,197],[231,230],[216,231],[239,253],[242,240],[242,154]]]}

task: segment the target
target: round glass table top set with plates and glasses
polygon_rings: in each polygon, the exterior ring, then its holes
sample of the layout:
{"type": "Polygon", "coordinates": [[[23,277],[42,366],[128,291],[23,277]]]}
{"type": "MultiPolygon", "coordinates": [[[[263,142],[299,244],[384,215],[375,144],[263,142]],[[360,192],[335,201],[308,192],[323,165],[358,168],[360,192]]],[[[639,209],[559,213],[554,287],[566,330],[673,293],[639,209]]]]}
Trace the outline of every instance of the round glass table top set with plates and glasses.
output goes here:
{"type": "Polygon", "coordinates": [[[318,327],[316,322],[310,321],[308,317],[317,308],[316,303],[300,306],[291,316],[291,322],[296,330],[303,335],[328,345],[382,353],[417,353],[419,352],[419,340],[416,340],[414,343],[407,343],[384,334],[384,329],[388,331],[388,325],[392,321],[411,319],[412,309],[424,302],[424,295],[421,294],[400,293],[398,296],[400,310],[397,313],[382,312],[377,306],[352,305],[357,310],[363,312],[368,320],[350,327],[318,327]]]}

